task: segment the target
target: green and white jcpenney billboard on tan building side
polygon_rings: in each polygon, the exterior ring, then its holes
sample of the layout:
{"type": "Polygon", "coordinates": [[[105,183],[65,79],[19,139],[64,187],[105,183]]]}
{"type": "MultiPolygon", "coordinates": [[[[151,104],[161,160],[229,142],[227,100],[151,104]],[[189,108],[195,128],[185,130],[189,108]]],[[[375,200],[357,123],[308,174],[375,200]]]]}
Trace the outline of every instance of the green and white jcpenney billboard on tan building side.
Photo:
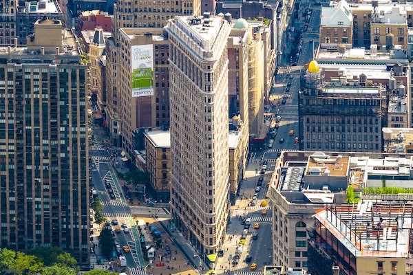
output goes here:
{"type": "Polygon", "coordinates": [[[132,97],[153,96],[153,47],[131,46],[132,97]]]}

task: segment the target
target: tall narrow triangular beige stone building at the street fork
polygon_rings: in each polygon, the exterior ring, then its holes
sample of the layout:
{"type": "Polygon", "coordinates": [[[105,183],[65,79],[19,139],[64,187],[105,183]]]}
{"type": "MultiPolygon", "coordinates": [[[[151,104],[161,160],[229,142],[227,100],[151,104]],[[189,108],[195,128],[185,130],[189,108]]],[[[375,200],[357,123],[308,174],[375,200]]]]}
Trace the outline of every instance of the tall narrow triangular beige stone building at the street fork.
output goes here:
{"type": "Polygon", "coordinates": [[[170,41],[171,213],[200,253],[215,254],[229,215],[228,50],[231,24],[176,17],[170,41]]]}

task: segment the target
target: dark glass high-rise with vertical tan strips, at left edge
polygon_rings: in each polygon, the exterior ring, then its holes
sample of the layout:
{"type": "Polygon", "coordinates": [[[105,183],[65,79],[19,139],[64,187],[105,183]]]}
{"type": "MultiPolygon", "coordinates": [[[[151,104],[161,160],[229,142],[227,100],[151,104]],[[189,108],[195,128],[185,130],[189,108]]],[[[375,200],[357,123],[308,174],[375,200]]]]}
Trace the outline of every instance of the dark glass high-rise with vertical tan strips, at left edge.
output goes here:
{"type": "Polygon", "coordinates": [[[36,21],[27,47],[0,48],[1,247],[88,263],[87,65],[62,27],[36,21]]]}

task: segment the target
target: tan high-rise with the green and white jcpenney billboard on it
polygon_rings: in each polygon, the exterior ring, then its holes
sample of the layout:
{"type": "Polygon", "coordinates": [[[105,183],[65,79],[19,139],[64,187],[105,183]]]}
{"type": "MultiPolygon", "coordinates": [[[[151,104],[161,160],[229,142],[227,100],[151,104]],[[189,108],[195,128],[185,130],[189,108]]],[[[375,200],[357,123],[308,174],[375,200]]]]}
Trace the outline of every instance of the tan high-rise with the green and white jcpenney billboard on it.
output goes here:
{"type": "Polygon", "coordinates": [[[128,28],[120,29],[120,45],[122,147],[131,159],[134,148],[145,148],[140,129],[169,127],[169,41],[163,29],[128,28]]]}

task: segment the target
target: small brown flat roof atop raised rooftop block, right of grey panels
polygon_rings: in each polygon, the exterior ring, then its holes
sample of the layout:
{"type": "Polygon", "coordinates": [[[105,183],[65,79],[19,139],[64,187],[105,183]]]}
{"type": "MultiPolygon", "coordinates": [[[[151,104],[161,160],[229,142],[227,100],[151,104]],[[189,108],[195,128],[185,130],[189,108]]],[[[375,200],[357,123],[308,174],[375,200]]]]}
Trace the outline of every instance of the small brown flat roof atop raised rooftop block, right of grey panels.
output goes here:
{"type": "Polygon", "coordinates": [[[314,153],[308,157],[305,175],[330,175],[345,176],[347,175],[349,157],[337,155],[330,157],[324,153],[314,153]]]}

